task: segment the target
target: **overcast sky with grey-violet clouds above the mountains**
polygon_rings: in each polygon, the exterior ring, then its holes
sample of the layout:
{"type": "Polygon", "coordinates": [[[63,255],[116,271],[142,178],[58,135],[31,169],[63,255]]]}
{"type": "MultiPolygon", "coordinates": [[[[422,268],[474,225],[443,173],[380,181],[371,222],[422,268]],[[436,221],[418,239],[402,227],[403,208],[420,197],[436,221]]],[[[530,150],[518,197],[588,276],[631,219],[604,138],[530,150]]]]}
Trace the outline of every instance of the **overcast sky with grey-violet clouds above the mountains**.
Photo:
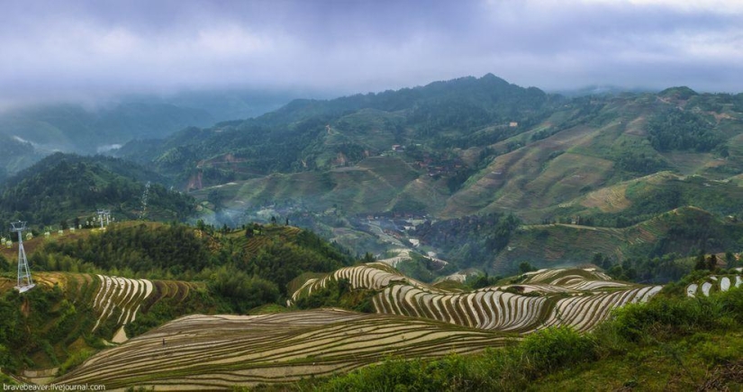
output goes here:
{"type": "Polygon", "coordinates": [[[743,92],[743,1],[0,0],[0,104],[183,88],[349,94],[488,72],[546,90],[743,92]]]}

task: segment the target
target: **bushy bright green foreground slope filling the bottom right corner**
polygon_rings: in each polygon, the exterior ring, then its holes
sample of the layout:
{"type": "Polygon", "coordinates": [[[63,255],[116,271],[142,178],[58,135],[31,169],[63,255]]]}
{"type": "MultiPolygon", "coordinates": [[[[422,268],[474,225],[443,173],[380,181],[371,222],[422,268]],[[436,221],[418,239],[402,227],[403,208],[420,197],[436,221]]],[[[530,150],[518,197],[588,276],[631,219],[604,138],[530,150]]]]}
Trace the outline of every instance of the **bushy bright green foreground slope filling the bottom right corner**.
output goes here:
{"type": "Polygon", "coordinates": [[[277,388],[739,390],[742,294],[738,288],[702,299],[658,296],[621,308],[593,333],[545,330],[501,350],[439,360],[399,356],[349,374],[277,388]]]}

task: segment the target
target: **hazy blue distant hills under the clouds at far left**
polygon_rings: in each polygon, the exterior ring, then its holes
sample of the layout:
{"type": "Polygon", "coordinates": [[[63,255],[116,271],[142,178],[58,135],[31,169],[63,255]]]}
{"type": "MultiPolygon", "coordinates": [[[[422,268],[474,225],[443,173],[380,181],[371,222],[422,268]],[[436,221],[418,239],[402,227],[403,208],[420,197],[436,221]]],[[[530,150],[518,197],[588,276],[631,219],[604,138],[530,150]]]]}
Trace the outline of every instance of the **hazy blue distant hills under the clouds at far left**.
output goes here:
{"type": "Polygon", "coordinates": [[[309,93],[192,90],[13,106],[0,111],[0,148],[6,152],[0,168],[12,174],[55,151],[104,153],[127,141],[164,138],[187,126],[255,117],[304,94],[309,93]]]}

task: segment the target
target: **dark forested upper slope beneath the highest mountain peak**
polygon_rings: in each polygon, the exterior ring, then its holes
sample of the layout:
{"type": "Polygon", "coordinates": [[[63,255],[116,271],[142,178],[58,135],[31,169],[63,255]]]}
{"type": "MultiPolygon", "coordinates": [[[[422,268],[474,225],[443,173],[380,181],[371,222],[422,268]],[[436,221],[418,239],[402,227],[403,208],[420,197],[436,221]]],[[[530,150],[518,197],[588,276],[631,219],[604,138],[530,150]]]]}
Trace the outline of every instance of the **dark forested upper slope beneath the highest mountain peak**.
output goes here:
{"type": "Polygon", "coordinates": [[[208,185],[224,182],[230,173],[235,178],[249,178],[257,173],[330,169],[339,155],[345,157],[346,164],[356,163],[366,158],[367,151],[378,154],[392,143],[405,145],[414,140],[469,147],[480,141],[501,141],[525,127],[506,126],[475,138],[469,135],[490,123],[515,121],[528,126],[538,122],[549,106],[548,96],[537,88],[510,85],[493,75],[463,77],[331,101],[295,100],[276,112],[244,122],[219,123],[210,130],[186,129],[150,146],[133,142],[124,146],[122,154],[154,162],[160,172],[184,181],[197,174],[193,168],[202,162],[198,174],[208,185]],[[329,124],[340,132],[329,132],[329,124]],[[369,140],[370,132],[385,142],[369,140]],[[231,169],[208,160],[227,155],[235,161],[231,169]]]}

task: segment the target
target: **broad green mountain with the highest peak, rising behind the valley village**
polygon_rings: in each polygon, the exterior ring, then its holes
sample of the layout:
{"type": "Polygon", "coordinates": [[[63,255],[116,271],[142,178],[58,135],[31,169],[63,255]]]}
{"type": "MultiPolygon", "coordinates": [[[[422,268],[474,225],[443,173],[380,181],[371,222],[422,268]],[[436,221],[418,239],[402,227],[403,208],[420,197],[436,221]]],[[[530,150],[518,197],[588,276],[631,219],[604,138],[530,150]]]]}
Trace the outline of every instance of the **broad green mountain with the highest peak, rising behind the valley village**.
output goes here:
{"type": "MultiPolygon", "coordinates": [[[[627,232],[638,224],[657,227],[665,221],[653,219],[678,208],[680,214],[693,211],[686,206],[702,208],[711,213],[709,224],[730,230],[710,227],[693,243],[684,242],[681,252],[723,251],[738,244],[725,232],[738,232],[743,213],[736,202],[742,116],[741,94],[673,87],[567,98],[486,75],[296,100],[255,119],[190,128],[162,141],[132,141],[117,154],[193,191],[208,222],[291,216],[361,253],[388,249],[381,242],[410,245],[408,239],[421,236],[403,228],[420,224],[412,221],[391,225],[392,236],[378,235],[376,230],[387,229],[363,221],[379,214],[432,220],[515,214],[527,225],[568,223],[555,235],[571,238],[581,232],[567,233],[579,230],[569,223],[627,232]]],[[[521,234],[509,237],[514,243],[486,248],[494,256],[422,244],[459,265],[513,270],[519,259],[576,263],[603,251],[623,260],[673,248],[658,243],[691,241],[688,233],[668,229],[638,241],[611,234],[591,251],[567,240],[538,240],[547,257],[509,251],[535,243],[521,234]]]]}

